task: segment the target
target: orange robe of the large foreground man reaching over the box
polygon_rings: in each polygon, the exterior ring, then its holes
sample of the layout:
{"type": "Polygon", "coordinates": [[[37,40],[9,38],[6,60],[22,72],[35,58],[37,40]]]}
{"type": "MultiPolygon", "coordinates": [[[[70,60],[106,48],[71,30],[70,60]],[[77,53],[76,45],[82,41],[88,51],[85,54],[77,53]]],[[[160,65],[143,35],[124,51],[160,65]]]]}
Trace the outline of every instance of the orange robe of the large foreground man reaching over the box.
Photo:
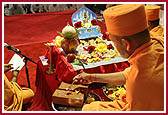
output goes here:
{"type": "Polygon", "coordinates": [[[152,38],[129,57],[126,77],[126,101],[92,102],[83,111],[163,111],[164,41],[152,38]]]}

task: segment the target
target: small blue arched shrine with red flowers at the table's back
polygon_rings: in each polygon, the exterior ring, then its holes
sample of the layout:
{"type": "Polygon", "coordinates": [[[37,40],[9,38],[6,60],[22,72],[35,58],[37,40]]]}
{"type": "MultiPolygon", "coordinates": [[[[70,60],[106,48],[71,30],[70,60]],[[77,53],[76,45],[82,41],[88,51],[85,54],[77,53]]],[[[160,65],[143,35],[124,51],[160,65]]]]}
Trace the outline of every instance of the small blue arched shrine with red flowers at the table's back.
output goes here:
{"type": "Polygon", "coordinates": [[[85,6],[72,15],[72,24],[79,32],[79,39],[94,38],[102,35],[96,14],[85,6]]]}

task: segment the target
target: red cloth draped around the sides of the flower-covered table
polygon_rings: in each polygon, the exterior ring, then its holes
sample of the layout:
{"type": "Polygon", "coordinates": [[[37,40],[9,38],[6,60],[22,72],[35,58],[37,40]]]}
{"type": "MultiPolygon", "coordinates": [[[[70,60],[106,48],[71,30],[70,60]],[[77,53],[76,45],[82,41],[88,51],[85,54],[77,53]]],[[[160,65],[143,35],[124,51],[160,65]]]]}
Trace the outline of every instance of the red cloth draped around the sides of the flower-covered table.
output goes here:
{"type": "MultiPolygon", "coordinates": [[[[46,53],[46,57],[49,58],[49,52],[46,53]]],[[[67,58],[57,47],[53,47],[52,59],[53,66],[55,66],[55,73],[52,75],[46,74],[48,66],[43,66],[40,61],[38,62],[36,73],[37,90],[33,104],[29,110],[52,110],[52,94],[58,88],[61,81],[72,82],[73,77],[81,72],[80,70],[74,71],[72,65],[67,62],[67,58]]],[[[123,71],[128,66],[128,62],[121,62],[90,68],[83,71],[87,73],[111,73],[123,71]]],[[[104,100],[108,100],[103,95],[100,88],[94,89],[93,91],[99,94],[104,100]]]]}

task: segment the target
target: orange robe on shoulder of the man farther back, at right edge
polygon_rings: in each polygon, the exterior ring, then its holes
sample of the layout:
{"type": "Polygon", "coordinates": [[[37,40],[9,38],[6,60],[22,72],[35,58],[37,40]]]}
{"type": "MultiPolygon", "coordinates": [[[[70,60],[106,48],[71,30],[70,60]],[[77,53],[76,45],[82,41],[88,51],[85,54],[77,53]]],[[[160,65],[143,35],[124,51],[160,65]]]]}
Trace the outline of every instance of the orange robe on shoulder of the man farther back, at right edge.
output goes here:
{"type": "Polygon", "coordinates": [[[161,25],[150,30],[151,37],[162,37],[164,39],[164,28],[161,25]]]}

